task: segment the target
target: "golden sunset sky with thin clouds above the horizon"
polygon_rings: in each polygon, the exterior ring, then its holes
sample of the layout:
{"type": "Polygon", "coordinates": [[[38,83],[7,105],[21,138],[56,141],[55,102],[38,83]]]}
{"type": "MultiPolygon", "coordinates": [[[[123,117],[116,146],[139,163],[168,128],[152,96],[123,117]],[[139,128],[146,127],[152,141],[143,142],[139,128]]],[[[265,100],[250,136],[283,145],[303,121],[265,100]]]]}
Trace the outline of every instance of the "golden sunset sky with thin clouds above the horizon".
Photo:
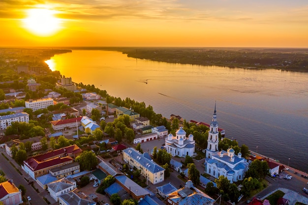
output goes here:
{"type": "Polygon", "coordinates": [[[308,48],[308,0],[0,0],[0,47],[308,48]]]}

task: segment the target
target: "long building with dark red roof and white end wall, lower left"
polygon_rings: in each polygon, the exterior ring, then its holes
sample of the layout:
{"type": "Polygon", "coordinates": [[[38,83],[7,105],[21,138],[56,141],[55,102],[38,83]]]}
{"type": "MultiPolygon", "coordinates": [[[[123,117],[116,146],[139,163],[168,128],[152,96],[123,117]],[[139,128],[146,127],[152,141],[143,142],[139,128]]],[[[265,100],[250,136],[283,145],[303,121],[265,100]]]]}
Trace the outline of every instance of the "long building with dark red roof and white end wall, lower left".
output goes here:
{"type": "Polygon", "coordinates": [[[33,179],[48,174],[49,170],[73,163],[73,158],[80,155],[82,149],[76,145],[66,146],[44,154],[30,157],[21,166],[33,179]]]}

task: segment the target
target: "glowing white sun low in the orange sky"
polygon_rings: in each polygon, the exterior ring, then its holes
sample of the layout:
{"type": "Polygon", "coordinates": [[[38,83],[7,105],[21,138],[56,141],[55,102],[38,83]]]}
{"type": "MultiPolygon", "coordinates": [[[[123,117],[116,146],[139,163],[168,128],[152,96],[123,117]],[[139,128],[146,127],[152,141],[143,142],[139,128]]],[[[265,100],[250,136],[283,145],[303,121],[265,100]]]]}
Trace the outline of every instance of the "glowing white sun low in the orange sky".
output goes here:
{"type": "Polygon", "coordinates": [[[39,36],[55,34],[60,27],[60,19],[54,16],[56,12],[45,8],[28,10],[28,17],[24,19],[26,29],[39,36]]]}

